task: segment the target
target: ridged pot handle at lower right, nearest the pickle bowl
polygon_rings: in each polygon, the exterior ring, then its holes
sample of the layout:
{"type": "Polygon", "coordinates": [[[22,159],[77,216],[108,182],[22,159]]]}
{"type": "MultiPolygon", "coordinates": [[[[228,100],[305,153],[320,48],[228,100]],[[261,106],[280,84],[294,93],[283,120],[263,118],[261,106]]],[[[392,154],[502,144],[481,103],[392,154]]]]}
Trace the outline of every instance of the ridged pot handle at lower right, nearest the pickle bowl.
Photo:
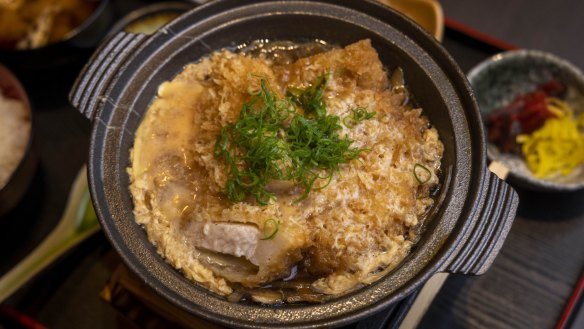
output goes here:
{"type": "Polygon", "coordinates": [[[445,272],[484,274],[499,253],[515,219],[519,197],[511,186],[487,171],[483,197],[475,205],[466,239],[457,247],[445,272]]]}

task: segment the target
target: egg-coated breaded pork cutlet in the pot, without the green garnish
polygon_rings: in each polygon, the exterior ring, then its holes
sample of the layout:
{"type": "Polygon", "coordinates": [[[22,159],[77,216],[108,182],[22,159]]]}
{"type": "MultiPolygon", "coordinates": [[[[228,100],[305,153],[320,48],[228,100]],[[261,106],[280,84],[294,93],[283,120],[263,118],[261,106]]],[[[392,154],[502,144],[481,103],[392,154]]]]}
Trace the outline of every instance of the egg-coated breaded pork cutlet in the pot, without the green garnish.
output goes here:
{"type": "Polygon", "coordinates": [[[284,64],[214,52],[159,87],[136,132],[128,169],[136,221],[169,263],[221,295],[318,301],[371,283],[408,254],[439,183],[443,145],[406,97],[369,40],[284,64]],[[284,180],[266,186],[274,196],[266,205],[230,201],[229,164],[216,152],[222,129],[262,81],[284,99],[322,76],[327,113],[371,114],[339,123],[356,159],[304,198],[305,186],[284,180]]]}

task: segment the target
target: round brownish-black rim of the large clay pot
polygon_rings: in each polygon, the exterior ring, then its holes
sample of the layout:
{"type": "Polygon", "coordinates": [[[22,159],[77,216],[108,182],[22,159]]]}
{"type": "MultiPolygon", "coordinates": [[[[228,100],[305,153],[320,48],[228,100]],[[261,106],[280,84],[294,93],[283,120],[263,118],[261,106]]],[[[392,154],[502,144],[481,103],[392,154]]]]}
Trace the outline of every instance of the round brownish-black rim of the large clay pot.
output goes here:
{"type": "MultiPolygon", "coordinates": [[[[209,24],[212,23],[211,18],[215,16],[220,16],[221,19],[230,19],[230,21],[233,21],[233,16],[237,13],[249,14],[252,12],[253,15],[258,15],[257,10],[259,9],[267,10],[282,5],[284,4],[281,1],[271,0],[256,0],[246,2],[245,4],[240,4],[237,0],[214,1],[204,6],[197,7],[183,17],[189,17],[189,19],[192,20],[196,19],[197,15],[203,16],[204,20],[197,23],[199,24],[197,28],[202,29],[208,27],[209,24]],[[241,12],[234,10],[233,8],[237,8],[241,12]]],[[[140,87],[131,86],[127,81],[135,78],[136,75],[139,75],[140,79],[146,79],[144,77],[152,77],[155,73],[146,72],[147,70],[144,70],[144,67],[147,67],[149,64],[147,61],[152,57],[160,57],[168,54],[165,53],[161,55],[161,53],[154,53],[153,55],[148,51],[152,49],[160,49],[161,46],[160,44],[157,44],[157,42],[161,42],[162,45],[168,45],[173,42],[176,44],[178,41],[181,41],[178,37],[185,36],[184,33],[186,32],[183,30],[185,26],[193,28],[191,24],[194,23],[192,21],[185,22],[185,19],[180,18],[171,23],[167,30],[172,30],[176,33],[173,39],[167,39],[168,31],[160,31],[152,36],[144,38],[141,46],[137,50],[132,51],[133,55],[130,56],[130,59],[128,60],[129,63],[123,67],[124,71],[121,73],[115,73],[116,82],[113,86],[106,88],[109,97],[107,97],[107,102],[100,103],[100,111],[89,110],[89,113],[87,113],[86,109],[79,109],[89,116],[94,116],[95,113],[93,113],[93,111],[98,111],[98,117],[94,120],[93,124],[90,145],[89,176],[92,199],[96,205],[96,211],[106,236],[116,247],[124,262],[134,273],[138,273],[138,275],[150,287],[154,288],[155,291],[163,295],[173,304],[178,305],[183,309],[188,309],[189,312],[197,316],[228,326],[249,328],[262,326],[296,326],[304,328],[312,328],[322,325],[338,326],[354,322],[365,316],[381,311],[391,303],[402,299],[416,288],[420,287],[434,273],[445,270],[448,263],[456,256],[456,252],[460,251],[462,248],[462,242],[469,237],[470,228],[467,224],[469,224],[473,216],[476,216],[477,205],[483,203],[485,198],[483,188],[486,184],[485,177],[487,175],[485,161],[486,150],[482,134],[482,123],[478,114],[476,101],[464,74],[454,59],[432,35],[411,20],[404,19],[402,14],[373,1],[353,0],[339,4],[333,0],[299,0],[287,2],[285,5],[285,9],[288,10],[286,12],[287,14],[290,14],[290,11],[294,12],[294,10],[296,10],[295,13],[298,15],[300,15],[300,13],[306,14],[308,10],[307,8],[312,10],[318,8],[318,12],[310,13],[318,13],[318,15],[320,15],[319,17],[334,18],[340,22],[346,22],[345,19],[347,19],[347,12],[355,13],[355,11],[359,10],[363,13],[363,17],[368,17],[367,19],[371,20],[368,21],[370,24],[373,24],[372,22],[380,24],[374,26],[378,26],[377,28],[385,31],[383,33],[384,41],[388,44],[393,44],[394,46],[396,42],[403,43],[402,46],[400,46],[400,49],[401,47],[407,48],[408,52],[410,52],[408,56],[412,56],[408,59],[411,60],[412,63],[423,67],[425,69],[423,70],[424,74],[428,74],[425,79],[432,80],[432,82],[436,84],[435,88],[437,88],[440,95],[444,97],[444,104],[450,115],[448,122],[452,126],[451,129],[460,134],[457,135],[457,137],[460,138],[454,138],[454,136],[451,136],[450,141],[453,145],[452,152],[454,153],[453,161],[455,161],[455,163],[452,164],[452,168],[444,168],[445,171],[450,170],[452,172],[452,175],[450,176],[451,180],[445,182],[445,186],[452,187],[452,189],[448,188],[448,191],[442,194],[446,195],[444,196],[446,201],[443,201],[443,207],[439,210],[439,215],[436,216],[438,217],[437,221],[439,219],[439,224],[444,224],[444,227],[441,230],[433,231],[432,241],[427,243],[428,245],[431,245],[431,247],[428,246],[428,248],[434,248],[433,250],[435,253],[423,255],[423,253],[418,250],[415,253],[417,259],[428,260],[424,261],[422,264],[416,265],[412,265],[410,261],[409,264],[413,272],[407,275],[404,275],[403,271],[400,272],[402,276],[407,278],[392,275],[391,278],[395,282],[392,281],[390,283],[388,282],[390,280],[388,280],[386,276],[368,287],[359,289],[356,293],[343,295],[335,298],[331,302],[308,306],[289,305],[285,309],[229,303],[225,301],[224,298],[219,299],[219,297],[213,296],[208,289],[199,287],[192,282],[189,283],[189,286],[187,287],[188,291],[185,290],[179,292],[177,289],[184,288],[181,284],[186,281],[186,279],[182,277],[182,274],[178,273],[178,271],[174,270],[174,268],[166,263],[164,263],[166,264],[164,265],[165,267],[161,268],[160,264],[164,262],[164,260],[156,254],[156,252],[152,252],[150,249],[144,250],[145,247],[151,248],[152,246],[140,245],[140,241],[130,241],[131,233],[134,232],[134,228],[138,226],[136,223],[127,223],[127,217],[133,217],[126,215],[128,209],[124,209],[125,207],[121,205],[124,200],[115,200],[115,195],[118,193],[115,188],[120,189],[121,184],[120,181],[117,181],[117,179],[113,177],[118,175],[116,173],[116,170],[118,169],[112,169],[111,166],[116,166],[115,162],[120,160],[120,136],[127,129],[125,126],[119,127],[118,124],[120,122],[127,122],[131,116],[139,116],[134,110],[126,110],[128,113],[125,114],[115,113],[116,102],[122,102],[122,104],[126,104],[125,106],[129,108],[132,106],[130,104],[133,103],[124,103],[124,94],[133,92],[132,96],[137,98],[136,94],[141,93],[145,88],[143,85],[140,87]],[[298,7],[293,7],[292,4],[298,7]],[[292,7],[291,9],[289,5],[292,7]],[[302,11],[299,8],[305,11],[302,11]],[[341,13],[345,15],[331,16],[333,15],[332,13],[326,12],[323,9],[331,11],[334,9],[337,10],[337,12],[334,12],[334,15],[341,15],[341,13]],[[368,12],[364,13],[364,10],[368,10],[368,12]],[[390,24],[389,22],[382,20],[383,17],[392,18],[394,19],[394,22],[390,24]],[[399,27],[396,27],[396,25],[399,27]],[[405,30],[406,28],[410,29],[409,33],[402,30],[405,30]],[[399,35],[399,40],[397,41],[390,38],[390,36],[397,35],[399,35]],[[412,40],[414,37],[417,38],[416,41],[412,40]],[[418,56],[414,56],[411,54],[415,53],[414,50],[420,50],[421,53],[418,53],[418,56]],[[433,54],[433,56],[430,56],[430,54],[433,54]],[[434,59],[434,57],[436,57],[436,59],[434,59]],[[436,62],[438,58],[440,59],[439,63],[436,62]],[[430,68],[435,69],[436,72],[431,71],[430,68]],[[446,96],[451,96],[452,98],[447,98],[446,96]],[[107,136],[107,134],[110,133],[110,136],[113,136],[111,138],[107,136]],[[111,150],[113,150],[113,154],[112,152],[109,152],[111,150]],[[108,186],[108,190],[104,190],[104,186],[108,186]],[[113,187],[114,189],[109,190],[109,187],[113,187]],[[457,190],[458,192],[464,190],[465,192],[468,192],[468,194],[463,193],[465,195],[464,198],[457,198],[453,195],[454,190],[457,190]],[[108,201],[108,198],[111,198],[111,204],[110,201],[108,201]],[[132,227],[129,228],[128,225],[131,225],[132,227]],[[132,232],[128,233],[129,230],[132,230],[132,232]],[[139,253],[136,253],[135,249],[134,251],[132,250],[132,248],[136,248],[135,245],[140,245],[141,249],[138,250],[139,253]],[[150,259],[148,257],[152,258],[150,259]],[[172,271],[173,278],[165,278],[164,281],[161,282],[160,276],[163,275],[161,273],[167,270],[172,271]],[[180,282],[172,281],[179,280],[176,278],[177,273],[181,275],[180,282]],[[405,280],[409,280],[408,282],[411,283],[409,285],[403,284],[405,280]],[[392,293],[390,294],[386,289],[387,287],[391,287],[391,285],[398,287],[396,288],[394,286],[392,288],[394,290],[392,290],[392,293]],[[189,295],[191,291],[195,291],[196,294],[193,293],[194,296],[189,295]],[[198,307],[193,307],[196,306],[192,305],[196,303],[195,300],[204,300],[204,302],[198,305],[198,307]],[[212,310],[215,311],[211,312],[212,310]],[[248,317],[245,318],[242,315],[247,315],[248,317]],[[306,316],[306,318],[300,318],[302,315],[306,316]],[[257,321],[261,319],[264,319],[267,322],[254,322],[254,320],[257,321]],[[292,322],[274,322],[283,319],[288,319],[292,322]]],[[[279,13],[283,14],[284,12],[285,10],[282,10],[279,13]]],[[[263,14],[267,15],[266,12],[263,14]]],[[[273,13],[270,15],[273,16],[273,13]]],[[[353,21],[351,22],[356,25],[356,28],[360,26],[353,21]]],[[[379,31],[372,30],[372,32],[381,35],[381,32],[379,31]]],[[[122,35],[122,38],[123,37],[124,35],[122,35]]],[[[203,40],[201,40],[201,44],[209,51],[214,50],[209,48],[203,40]]],[[[181,49],[186,49],[186,46],[181,47],[182,48],[179,48],[178,50],[172,49],[172,54],[179,53],[181,49]]],[[[193,59],[193,61],[195,59],[193,59]]],[[[163,62],[162,64],[159,64],[159,66],[163,66],[165,63],[166,62],[163,62]]],[[[149,71],[152,71],[152,69],[151,66],[148,68],[149,71]]],[[[96,83],[99,84],[100,82],[96,83]]],[[[125,124],[126,123],[124,123],[124,125],[125,124]]],[[[125,172],[125,169],[119,171],[125,172]]],[[[122,177],[122,174],[119,174],[119,176],[122,177]]],[[[398,268],[403,268],[403,264],[404,263],[402,262],[402,265],[398,266],[398,268]]]]}

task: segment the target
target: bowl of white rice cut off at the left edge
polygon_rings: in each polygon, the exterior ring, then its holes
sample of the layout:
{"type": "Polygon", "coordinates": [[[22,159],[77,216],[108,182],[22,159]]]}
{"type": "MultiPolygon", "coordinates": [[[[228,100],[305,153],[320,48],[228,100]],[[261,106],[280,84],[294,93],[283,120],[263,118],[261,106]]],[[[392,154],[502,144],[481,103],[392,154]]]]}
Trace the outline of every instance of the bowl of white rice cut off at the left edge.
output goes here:
{"type": "Polygon", "coordinates": [[[18,79],[0,64],[0,216],[26,192],[34,176],[32,111],[18,79]],[[8,133],[8,135],[5,135],[8,133]]]}

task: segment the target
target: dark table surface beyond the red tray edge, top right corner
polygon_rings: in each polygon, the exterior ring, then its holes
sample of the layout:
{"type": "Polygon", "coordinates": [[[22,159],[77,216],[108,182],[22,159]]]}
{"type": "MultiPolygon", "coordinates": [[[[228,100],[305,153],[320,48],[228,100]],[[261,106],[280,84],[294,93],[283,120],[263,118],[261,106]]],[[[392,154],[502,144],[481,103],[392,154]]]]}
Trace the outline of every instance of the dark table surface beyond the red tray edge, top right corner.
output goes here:
{"type": "Polygon", "coordinates": [[[439,0],[446,17],[521,48],[552,52],[584,69],[584,1],[439,0]]]}

